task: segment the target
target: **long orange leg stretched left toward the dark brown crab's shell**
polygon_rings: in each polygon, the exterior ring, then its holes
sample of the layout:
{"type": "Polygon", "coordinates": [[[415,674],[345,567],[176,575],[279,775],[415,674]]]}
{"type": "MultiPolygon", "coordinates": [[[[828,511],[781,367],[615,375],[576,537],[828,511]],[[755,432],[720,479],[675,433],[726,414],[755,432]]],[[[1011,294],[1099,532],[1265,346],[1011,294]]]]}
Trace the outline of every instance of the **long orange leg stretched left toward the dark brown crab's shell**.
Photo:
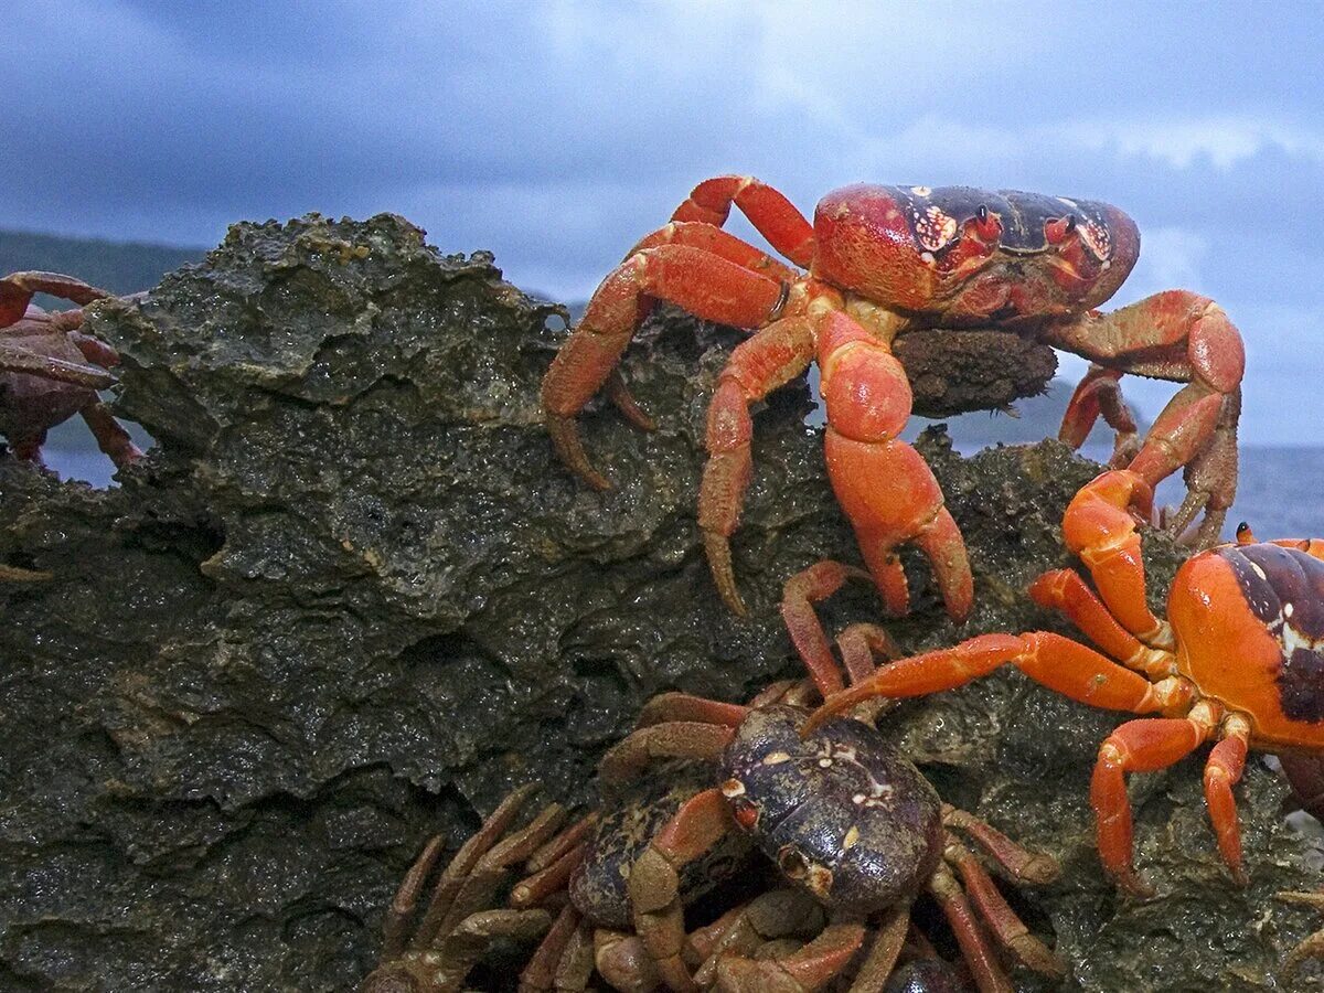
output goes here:
{"type": "Polygon", "coordinates": [[[828,718],[874,696],[927,696],[955,690],[994,669],[1014,665],[1034,682],[1104,710],[1149,714],[1180,706],[1189,690],[1157,687],[1094,649],[1050,632],[981,634],[951,649],[891,662],[865,682],[834,694],[805,722],[809,735],[828,718]]]}

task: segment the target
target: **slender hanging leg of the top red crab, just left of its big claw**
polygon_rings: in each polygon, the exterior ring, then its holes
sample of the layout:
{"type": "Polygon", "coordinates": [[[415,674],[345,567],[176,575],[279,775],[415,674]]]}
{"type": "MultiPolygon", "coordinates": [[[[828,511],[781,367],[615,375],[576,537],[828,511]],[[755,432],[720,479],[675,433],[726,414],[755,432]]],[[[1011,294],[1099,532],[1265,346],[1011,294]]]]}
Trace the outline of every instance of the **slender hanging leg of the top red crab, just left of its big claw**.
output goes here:
{"type": "Polygon", "coordinates": [[[796,314],[776,320],[731,352],[708,406],[708,463],[699,487],[699,527],[712,581],[727,606],[741,616],[747,610],[736,589],[730,539],[753,474],[749,402],[798,376],[813,355],[813,327],[806,316],[796,314]]]}

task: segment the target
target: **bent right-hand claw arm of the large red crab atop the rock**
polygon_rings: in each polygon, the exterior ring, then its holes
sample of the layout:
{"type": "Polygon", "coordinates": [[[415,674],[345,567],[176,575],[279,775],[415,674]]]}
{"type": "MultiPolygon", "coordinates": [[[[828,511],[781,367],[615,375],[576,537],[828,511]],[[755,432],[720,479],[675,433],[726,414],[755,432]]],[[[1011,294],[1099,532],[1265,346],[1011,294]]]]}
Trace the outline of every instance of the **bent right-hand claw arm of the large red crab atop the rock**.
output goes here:
{"type": "MultiPolygon", "coordinates": [[[[1217,542],[1237,493],[1237,420],[1246,369],[1241,334],[1222,307],[1169,290],[1111,314],[1087,314],[1053,328],[1046,340],[1112,369],[1188,384],[1158,416],[1129,467],[1157,486],[1186,466],[1188,495],[1173,531],[1180,534],[1205,510],[1198,545],[1217,542]]],[[[1088,433],[1095,402],[1102,401],[1092,385],[1078,391],[1062,422],[1063,440],[1088,433]]]]}

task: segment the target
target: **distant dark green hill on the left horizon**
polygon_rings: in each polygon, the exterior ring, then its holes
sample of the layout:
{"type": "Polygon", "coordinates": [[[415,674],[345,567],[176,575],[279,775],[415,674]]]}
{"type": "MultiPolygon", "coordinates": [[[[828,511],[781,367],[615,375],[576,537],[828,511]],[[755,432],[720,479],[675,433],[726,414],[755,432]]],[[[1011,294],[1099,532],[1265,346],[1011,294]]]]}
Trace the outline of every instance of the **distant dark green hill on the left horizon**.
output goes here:
{"type": "Polygon", "coordinates": [[[0,275],[40,269],[74,275],[111,293],[150,290],[166,273],[205,254],[201,248],[0,230],[0,275]]]}

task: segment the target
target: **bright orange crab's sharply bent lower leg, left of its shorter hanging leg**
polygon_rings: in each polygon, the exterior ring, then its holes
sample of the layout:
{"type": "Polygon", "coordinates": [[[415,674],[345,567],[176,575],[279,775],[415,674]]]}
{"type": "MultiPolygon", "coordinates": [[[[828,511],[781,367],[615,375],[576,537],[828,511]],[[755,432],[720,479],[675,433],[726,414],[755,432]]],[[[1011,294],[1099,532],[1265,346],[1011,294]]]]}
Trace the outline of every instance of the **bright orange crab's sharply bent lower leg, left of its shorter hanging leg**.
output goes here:
{"type": "Polygon", "coordinates": [[[1128,720],[1099,748],[1090,780],[1090,806],[1098,818],[1099,858],[1117,886],[1145,895],[1151,888],[1132,865],[1128,772],[1155,772],[1173,765],[1206,741],[1213,726],[1192,714],[1186,718],[1128,720]]]}

